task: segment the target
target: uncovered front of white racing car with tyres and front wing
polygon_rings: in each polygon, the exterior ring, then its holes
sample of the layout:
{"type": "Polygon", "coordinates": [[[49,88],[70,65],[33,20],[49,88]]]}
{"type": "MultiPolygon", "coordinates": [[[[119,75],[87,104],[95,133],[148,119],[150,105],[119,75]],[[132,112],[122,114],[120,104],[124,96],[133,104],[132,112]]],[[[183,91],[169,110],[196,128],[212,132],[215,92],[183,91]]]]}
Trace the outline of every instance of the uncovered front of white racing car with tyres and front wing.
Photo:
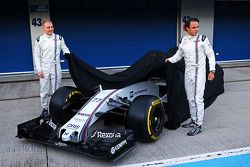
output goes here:
{"type": "Polygon", "coordinates": [[[51,97],[52,120],[46,122],[39,117],[20,124],[17,136],[115,160],[134,148],[135,139],[152,142],[159,138],[165,115],[162,101],[155,81],[122,89],[103,90],[100,85],[89,99],[78,89],[65,86],[51,97]],[[106,121],[112,115],[124,121],[125,128],[91,128],[97,120],[106,121]]]}

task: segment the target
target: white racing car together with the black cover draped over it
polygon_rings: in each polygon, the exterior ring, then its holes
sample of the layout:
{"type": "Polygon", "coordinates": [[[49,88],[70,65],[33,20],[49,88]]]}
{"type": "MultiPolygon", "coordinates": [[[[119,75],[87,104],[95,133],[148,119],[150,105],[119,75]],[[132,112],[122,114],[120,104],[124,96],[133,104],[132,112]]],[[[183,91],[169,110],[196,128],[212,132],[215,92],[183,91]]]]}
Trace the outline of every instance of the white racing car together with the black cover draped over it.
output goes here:
{"type": "MultiPolygon", "coordinates": [[[[158,140],[165,113],[168,117],[165,127],[169,129],[178,128],[189,117],[181,84],[182,66],[166,67],[164,63],[175,51],[148,52],[127,70],[113,75],[95,69],[72,54],[66,55],[76,88],[64,86],[56,90],[49,104],[51,120],[37,117],[21,123],[17,137],[109,160],[126,154],[135,147],[136,141],[158,140]],[[175,71],[178,82],[176,75],[173,77],[175,71]],[[169,88],[178,89],[179,93],[169,88]],[[178,106],[173,100],[177,96],[182,107],[173,110],[173,106],[178,106]],[[104,125],[118,124],[118,127],[97,128],[101,120],[104,125]]],[[[208,95],[205,95],[205,107],[224,91],[223,71],[219,66],[216,73],[217,80],[206,86],[209,93],[205,91],[208,95]]]]}

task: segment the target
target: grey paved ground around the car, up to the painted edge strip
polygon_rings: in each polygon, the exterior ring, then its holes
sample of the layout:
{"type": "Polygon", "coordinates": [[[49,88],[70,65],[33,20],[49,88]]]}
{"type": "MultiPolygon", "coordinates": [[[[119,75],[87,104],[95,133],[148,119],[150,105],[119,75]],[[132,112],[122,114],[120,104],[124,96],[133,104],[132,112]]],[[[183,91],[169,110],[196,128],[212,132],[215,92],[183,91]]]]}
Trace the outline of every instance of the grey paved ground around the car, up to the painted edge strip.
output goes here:
{"type": "MultiPolygon", "coordinates": [[[[203,132],[164,129],[155,143],[139,143],[115,164],[83,154],[16,138],[17,124],[41,112],[39,82],[0,83],[0,166],[105,167],[168,160],[250,146],[250,67],[224,68],[225,93],[205,111],[203,132]]],[[[63,85],[74,85],[64,79],[63,85]]],[[[133,166],[133,165],[132,165],[133,166]]]]}

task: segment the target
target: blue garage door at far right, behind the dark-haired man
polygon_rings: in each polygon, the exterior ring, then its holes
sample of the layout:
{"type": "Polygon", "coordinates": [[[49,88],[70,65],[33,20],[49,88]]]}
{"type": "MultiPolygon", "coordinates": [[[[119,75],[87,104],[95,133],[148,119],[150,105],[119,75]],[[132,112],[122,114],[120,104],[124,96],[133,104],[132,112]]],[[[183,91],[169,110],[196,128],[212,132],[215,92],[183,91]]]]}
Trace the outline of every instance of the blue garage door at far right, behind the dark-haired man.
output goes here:
{"type": "Polygon", "coordinates": [[[250,2],[216,2],[214,19],[216,59],[250,59],[250,2]]]}

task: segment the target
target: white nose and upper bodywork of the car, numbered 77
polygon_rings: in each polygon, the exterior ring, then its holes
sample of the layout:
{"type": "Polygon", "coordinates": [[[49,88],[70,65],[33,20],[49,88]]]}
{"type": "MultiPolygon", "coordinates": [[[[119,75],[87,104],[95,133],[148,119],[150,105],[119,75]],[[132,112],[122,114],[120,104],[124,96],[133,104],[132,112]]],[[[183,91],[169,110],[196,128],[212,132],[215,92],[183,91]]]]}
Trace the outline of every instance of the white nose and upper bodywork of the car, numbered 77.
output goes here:
{"type": "Polygon", "coordinates": [[[134,98],[141,95],[153,95],[159,97],[159,86],[154,81],[139,82],[122,89],[102,90],[92,96],[88,102],[59,130],[59,137],[63,141],[79,143],[86,142],[88,137],[88,128],[98,120],[99,115],[108,112],[111,109],[122,106],[120,98],[133,101],[134,98]],[[99,114],[98,114],[99,113],[99,114]]]}

